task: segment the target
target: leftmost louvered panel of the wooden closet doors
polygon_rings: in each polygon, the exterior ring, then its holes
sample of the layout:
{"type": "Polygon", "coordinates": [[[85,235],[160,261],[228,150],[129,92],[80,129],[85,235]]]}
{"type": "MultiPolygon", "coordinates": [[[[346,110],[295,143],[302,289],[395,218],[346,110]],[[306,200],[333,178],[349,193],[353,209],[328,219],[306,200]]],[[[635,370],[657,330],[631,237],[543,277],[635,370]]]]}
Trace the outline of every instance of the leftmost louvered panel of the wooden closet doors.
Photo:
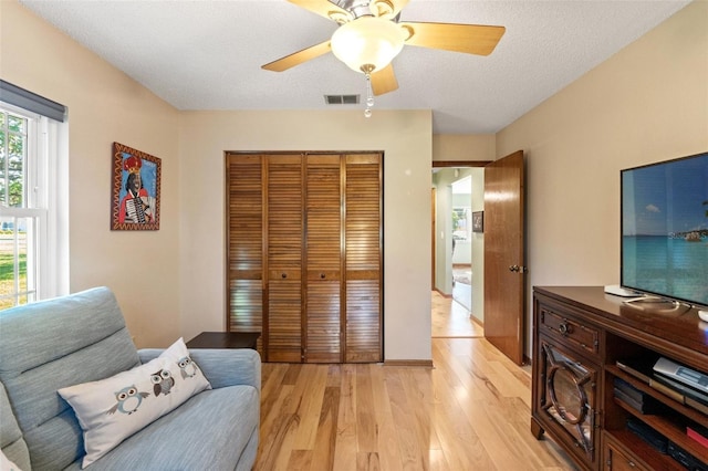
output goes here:
{"type": "Polygon", "coordinates": [[[227,171],[228,329],[262,332],[262,157],[230,155],[227,171]]]}

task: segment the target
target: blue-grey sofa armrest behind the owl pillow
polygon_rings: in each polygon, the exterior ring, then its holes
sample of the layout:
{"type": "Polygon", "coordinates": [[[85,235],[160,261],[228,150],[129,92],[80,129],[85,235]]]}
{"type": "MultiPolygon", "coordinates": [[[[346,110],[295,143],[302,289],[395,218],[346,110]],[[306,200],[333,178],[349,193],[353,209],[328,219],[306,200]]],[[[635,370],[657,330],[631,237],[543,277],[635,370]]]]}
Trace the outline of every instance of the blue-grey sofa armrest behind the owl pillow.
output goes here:
{"type": "MultiPolygon", "coordinates": [[[[157,358],[163,352],[159,348],[140,349],[140,363],[157,358]]],[[[192,348],[189,355],[212,388],[250,385],[260,394],[261,357],[258,352],[250,348],[192,348]]]]}

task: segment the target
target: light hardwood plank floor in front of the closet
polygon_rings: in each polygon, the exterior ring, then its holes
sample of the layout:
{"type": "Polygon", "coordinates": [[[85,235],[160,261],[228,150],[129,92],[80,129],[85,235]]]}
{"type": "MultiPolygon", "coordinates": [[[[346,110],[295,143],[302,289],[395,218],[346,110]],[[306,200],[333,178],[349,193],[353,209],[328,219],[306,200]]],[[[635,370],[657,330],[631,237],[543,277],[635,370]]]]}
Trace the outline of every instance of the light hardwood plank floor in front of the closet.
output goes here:
{"type": "Polygon", "coordinates": [[[530,370],[485,338],[434,367],[263,364],[256,470],[568,470],[530,432],[530,370]]]}

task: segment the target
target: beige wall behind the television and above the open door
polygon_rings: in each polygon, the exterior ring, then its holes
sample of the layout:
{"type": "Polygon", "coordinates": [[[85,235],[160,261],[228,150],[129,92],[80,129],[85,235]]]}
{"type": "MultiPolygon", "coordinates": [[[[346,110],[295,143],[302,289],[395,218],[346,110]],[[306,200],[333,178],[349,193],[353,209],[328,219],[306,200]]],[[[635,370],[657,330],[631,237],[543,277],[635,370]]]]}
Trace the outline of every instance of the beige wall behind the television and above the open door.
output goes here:
{"type": "Polygon", "coordinates": [[[530,286],[617,284],[620,170],[708,150],[708,2],[498,133],[498,157],[517,149],[527,155],[530,286]]]}

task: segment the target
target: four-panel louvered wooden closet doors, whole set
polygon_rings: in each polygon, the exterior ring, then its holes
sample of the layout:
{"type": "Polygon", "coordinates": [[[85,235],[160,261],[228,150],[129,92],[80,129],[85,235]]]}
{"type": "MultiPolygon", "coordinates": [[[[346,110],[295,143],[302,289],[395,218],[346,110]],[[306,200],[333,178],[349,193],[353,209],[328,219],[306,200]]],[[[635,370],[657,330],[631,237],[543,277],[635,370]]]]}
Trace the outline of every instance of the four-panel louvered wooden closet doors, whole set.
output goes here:
{"type": "Polygon", "coordinates": [[[266,362],[383,359],[382,155],[227,156],[228,326],[266,362]]]}

